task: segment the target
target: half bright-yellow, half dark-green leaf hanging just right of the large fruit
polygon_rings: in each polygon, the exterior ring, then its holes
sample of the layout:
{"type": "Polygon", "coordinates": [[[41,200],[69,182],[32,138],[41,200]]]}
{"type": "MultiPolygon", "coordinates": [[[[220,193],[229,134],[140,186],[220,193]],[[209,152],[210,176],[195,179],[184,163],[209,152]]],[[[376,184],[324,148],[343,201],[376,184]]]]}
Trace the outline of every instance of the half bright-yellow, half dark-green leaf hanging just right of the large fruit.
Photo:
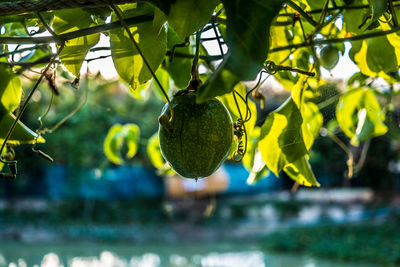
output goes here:
{"type": "Polygon", "coordinates": [[[290,163],[307,155],[303,140],[300,110],[289,98],[279,109],[270,113],[261,127],[258,148],[268,169],[276,176],[290,163]]]}

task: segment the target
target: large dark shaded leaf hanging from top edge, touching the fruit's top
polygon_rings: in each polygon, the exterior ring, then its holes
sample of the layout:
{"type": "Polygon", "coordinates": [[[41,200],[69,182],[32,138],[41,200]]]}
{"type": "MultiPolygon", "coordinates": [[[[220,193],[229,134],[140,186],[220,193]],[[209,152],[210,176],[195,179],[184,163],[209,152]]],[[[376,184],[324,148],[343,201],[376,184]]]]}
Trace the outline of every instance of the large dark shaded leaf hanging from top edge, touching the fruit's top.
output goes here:
{"type": "Polygon", "coordinates": [[[198,101],[231,92],[242,80],[252,80],[268,55],[269,28],[283,0],[224,0],[229,54],[198,89],[198,101]]]}

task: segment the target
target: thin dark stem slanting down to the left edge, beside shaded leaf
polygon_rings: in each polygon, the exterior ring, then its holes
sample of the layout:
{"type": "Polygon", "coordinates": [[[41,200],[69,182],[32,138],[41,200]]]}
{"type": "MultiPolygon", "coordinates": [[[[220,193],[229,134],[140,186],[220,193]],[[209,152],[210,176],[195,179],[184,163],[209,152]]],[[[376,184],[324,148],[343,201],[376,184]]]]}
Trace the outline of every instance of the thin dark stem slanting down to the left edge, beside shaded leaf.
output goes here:
{"type": "MultiPolygon", "coordinates": [[[[50,62],[47,64],[46,68],[42,71],[42,74],[40,75],[39,79],[36,81],[35,85],[33,86],[31,92],[29,93],[28,97],[25,99],[24,103],[22,104],[22,107],[20,109],[20,111],[18,112],[17,117],[15,118],[15,121],[13,122],[13,124],[11,125],[10,129],[7,132],[6,138],[4,138],[4,141],[1,145],[0,148],[0,155],[3,153],[3,150],[6,146],[6,143],[8,141],[8,139],[10,139],[11,134],[14,132],[15,127],[17,126],[18,121],[21,119],[22,114],[24,113],[26,107],[28,106],[29,101],[31,100],[33,94],[35,93],[36,89],[38,88],[40,82],[43,80],[45,74],[47,73],[47,71],[49,70],[50,66],[55,62],[56,58],[58,57],[58,55],[61,53],[61,51],[64,48],[64,44],[62,44],[60,46],[60,48],[58,49],[57,53],[51,58],[50,62]]],[[[3,161],[2,158],[0,157],[0,162],[4,163],[4,164],[8,164],[8,163],[16,163],[15,161],[3,161]]]]}

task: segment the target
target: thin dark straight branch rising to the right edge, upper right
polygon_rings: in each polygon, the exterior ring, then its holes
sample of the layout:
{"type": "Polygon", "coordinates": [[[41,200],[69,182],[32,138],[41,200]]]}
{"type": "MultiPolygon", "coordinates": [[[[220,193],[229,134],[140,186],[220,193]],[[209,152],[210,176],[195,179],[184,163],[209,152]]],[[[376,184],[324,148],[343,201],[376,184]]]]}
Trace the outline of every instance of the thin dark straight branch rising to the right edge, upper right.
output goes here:
{"type": "Polygon", "coordinates": [[[398,26],[398,27],[394,27],[393,29],[387,30],[387,31],[371,32],[371,33],[360,34],[360,35],[350,36],[350,37],[345,37],[345,38],[317,39],[317,40],[313,40],[310,42],[275,47],[275,48],[270,49],[269,53],[276,53],[276,52],[284,51],[284,50],[316,46],[316,45],[322,45],[322,44],[334,44],[334,43],[343,43],[343,42],[350,42],[350,41],[360,41],[360,40],[385,36],[385,35],[388,35],[391,33],[399,32],[399,31],[400,31],[400,27],[398,26]]]}

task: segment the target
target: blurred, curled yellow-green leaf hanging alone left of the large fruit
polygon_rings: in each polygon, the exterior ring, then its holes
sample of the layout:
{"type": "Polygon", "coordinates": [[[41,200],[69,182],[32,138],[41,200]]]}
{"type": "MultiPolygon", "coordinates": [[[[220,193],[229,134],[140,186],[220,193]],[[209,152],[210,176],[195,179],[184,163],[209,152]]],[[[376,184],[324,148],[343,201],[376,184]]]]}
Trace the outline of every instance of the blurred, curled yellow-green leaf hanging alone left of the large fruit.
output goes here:
{"type": "Polygon", "coordinates": [[[139,137],[140,130],[136,124],[113,125],[107,133],[103,146],[108,160],[114,164],[123,164],[121,151],[124,145],[127,147],[126,158],[133,158],[137,152],[139,137]]]}

